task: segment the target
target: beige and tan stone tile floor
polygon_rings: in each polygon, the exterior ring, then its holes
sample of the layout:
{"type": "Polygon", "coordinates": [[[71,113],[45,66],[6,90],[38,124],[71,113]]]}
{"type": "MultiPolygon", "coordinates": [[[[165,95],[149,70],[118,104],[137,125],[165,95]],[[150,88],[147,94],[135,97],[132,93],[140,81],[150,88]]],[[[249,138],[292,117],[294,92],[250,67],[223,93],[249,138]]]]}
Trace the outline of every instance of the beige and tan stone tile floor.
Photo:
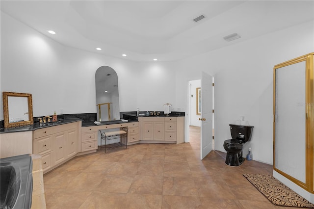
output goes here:
{"type": "Polygon", "coordinates": [[[44,175],[48,209],[272,209],[243,173],[272,174],[245,161],[232,167],[225,153],[200,160],[200,130],[190,142],[136,144],[75,157],[44,175]]]}

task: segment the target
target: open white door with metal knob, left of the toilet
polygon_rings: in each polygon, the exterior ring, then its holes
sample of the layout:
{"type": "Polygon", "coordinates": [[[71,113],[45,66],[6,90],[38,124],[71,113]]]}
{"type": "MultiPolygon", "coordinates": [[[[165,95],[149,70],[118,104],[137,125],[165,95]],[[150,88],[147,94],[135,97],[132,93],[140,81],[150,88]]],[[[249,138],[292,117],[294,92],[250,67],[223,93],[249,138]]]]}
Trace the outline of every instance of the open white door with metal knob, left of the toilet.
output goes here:
{"type": "Polygon", "coordinates": [[[201,159],[212,150],[212,76],[202,72],[201,78],[201,159]]]}

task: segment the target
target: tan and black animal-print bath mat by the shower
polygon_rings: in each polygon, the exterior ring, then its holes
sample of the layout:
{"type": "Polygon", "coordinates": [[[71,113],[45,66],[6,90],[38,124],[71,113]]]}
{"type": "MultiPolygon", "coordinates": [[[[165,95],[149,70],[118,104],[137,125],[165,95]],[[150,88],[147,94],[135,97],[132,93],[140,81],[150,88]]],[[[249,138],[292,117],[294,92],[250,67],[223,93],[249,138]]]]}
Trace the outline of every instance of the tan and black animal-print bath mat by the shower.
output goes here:
{"type": "Polygon", "coordinates": [[[314,204],[272,176],[258,174],[243,174],[243,176],[276,206],[314,208],[314,204]]]}

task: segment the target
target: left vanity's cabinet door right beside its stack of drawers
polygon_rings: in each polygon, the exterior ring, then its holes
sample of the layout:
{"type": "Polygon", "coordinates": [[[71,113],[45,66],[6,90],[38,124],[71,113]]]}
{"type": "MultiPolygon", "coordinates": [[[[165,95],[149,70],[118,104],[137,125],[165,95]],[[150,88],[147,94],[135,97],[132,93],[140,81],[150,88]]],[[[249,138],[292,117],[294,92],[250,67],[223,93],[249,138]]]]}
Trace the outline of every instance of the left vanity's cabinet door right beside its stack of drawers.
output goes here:
{"type": "Polygon", "coordinates": [[[53,145],[54,164],[58,164],[66,157],[66,132],[53,134],[53,145]]]}

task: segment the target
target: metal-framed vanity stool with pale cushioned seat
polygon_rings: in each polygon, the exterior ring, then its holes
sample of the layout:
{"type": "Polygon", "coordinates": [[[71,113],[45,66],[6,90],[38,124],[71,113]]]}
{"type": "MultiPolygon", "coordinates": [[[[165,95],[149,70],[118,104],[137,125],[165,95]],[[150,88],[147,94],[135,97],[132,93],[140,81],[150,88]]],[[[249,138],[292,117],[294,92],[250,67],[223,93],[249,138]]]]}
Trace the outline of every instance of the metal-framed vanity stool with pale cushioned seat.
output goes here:
{"type": "Polygon", "coordinates": [[[126,146],[126,149],[128,148],[128,127],[123,127],[119,131],[100,131],[101,139],[100,139],[100,150],[102,150],[102,141],[105,141],[105,153],[106,153],[106,147],[113,148],[117,146],[126,146]],[[125,144],[123,143],[123,139],[125,138],[125,144]],[[106,141],[113,140],[113,139],[120,139],[120,142],[113,143],[106,145],[106,141]]]}

